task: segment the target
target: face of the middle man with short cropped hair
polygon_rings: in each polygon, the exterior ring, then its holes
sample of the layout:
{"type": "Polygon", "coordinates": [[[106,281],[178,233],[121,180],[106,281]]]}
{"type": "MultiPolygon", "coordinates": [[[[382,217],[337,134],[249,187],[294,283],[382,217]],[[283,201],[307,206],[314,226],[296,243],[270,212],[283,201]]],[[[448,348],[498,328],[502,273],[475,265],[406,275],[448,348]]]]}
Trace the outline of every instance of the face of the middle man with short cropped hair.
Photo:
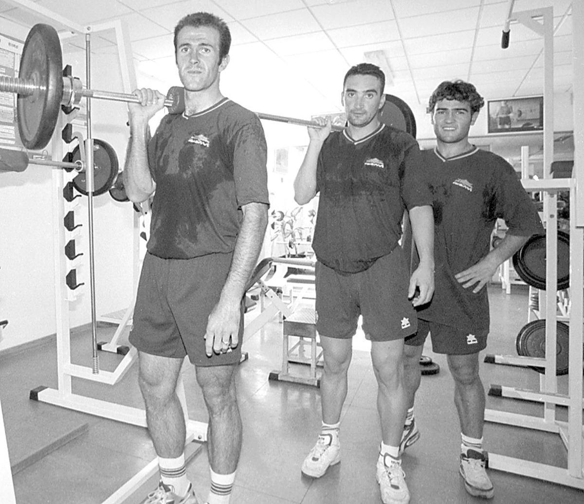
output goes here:
{"type": "Polygon", "coordinates": [[[345,105],[349,124],[359,127],[367,126],[375,119],[385,103],[379,79],[374,75],[351,75],[340,99],[345,105]]]}

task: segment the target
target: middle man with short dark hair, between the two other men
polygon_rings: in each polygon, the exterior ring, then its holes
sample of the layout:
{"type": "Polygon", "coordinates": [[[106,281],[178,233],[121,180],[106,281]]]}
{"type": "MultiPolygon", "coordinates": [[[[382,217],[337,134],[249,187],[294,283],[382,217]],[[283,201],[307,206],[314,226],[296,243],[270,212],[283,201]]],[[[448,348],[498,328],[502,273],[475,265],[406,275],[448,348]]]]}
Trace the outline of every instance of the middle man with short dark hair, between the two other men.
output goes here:
{"type": "Polygon", "coordinates": [[[322,430],[302,464],[318,478],[340,461],[340,413],[357,320],[371,340],[378,383],[382,441],[377,481],[384,503],[407,503],[409,491],[399,457],[406,396],[402,385],[404,338],[416,331],[413,305],[433,292],[432,201],[418,143],[380,123],[385,76],[375,65],[349,69],[342,103],[348,126],[331,133],[330,121],[309,128],[310,143],[294,181],[295,199],[320,193],[313,248],[317,256],[316,310],[324,369],[322,430]],[[409,278],[398,241],[408,208],[420,245],[420,264],[409,278]],[[416,287],[419,296],[415,296],[416,287]]]}

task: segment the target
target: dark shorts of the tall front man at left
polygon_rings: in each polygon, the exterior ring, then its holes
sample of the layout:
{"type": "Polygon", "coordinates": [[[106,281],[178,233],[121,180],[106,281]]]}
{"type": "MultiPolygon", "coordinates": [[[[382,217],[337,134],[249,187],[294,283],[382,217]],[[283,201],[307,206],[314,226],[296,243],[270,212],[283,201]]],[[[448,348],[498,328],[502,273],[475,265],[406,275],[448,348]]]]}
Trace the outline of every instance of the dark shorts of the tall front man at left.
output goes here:
{"type": "Polygon", "coordinates": [[[130,343],[140,352],[183,359],[197,366],[239,362],[243,335],[241,305],[239,344],[230,352],[207,357],[207,319],[221,295],[231,267],[231,253],[193,259],[161,259],[147,253],[142,263],[130,343]]]}

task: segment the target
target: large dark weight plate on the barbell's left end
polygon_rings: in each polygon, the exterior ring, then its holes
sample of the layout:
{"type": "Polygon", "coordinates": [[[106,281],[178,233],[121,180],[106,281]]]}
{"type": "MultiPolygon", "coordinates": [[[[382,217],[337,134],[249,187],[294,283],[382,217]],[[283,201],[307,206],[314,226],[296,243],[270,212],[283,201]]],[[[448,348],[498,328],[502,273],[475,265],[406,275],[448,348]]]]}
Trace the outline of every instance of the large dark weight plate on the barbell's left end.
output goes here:
{"type": "Polygon", "coordinates": [[[30,150],[46,147],[53,136],[63,98],[61,42],[49,25],[34,25],[22,49],[18,77],[34,82],[32,95],[18,95],[16,115],[22,144],[30,150]]]}

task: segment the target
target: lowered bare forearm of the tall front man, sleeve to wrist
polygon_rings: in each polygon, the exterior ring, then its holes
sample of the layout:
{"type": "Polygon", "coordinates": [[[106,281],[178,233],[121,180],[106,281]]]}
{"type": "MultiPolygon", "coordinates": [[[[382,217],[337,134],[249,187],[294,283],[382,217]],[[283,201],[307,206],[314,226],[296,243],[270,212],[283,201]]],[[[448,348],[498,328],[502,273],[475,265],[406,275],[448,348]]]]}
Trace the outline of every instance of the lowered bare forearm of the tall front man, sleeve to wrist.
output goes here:
{"type": "Polygon", "coordinates": [[[242,210],[244,211],[244,220],[235,244],[231,269],[221,292],[222,298],[241,300],[244,296],[246,283],[248,283],[258,262],[259,252],[266,234],[267,205],[249,203],[242,210]]]}

